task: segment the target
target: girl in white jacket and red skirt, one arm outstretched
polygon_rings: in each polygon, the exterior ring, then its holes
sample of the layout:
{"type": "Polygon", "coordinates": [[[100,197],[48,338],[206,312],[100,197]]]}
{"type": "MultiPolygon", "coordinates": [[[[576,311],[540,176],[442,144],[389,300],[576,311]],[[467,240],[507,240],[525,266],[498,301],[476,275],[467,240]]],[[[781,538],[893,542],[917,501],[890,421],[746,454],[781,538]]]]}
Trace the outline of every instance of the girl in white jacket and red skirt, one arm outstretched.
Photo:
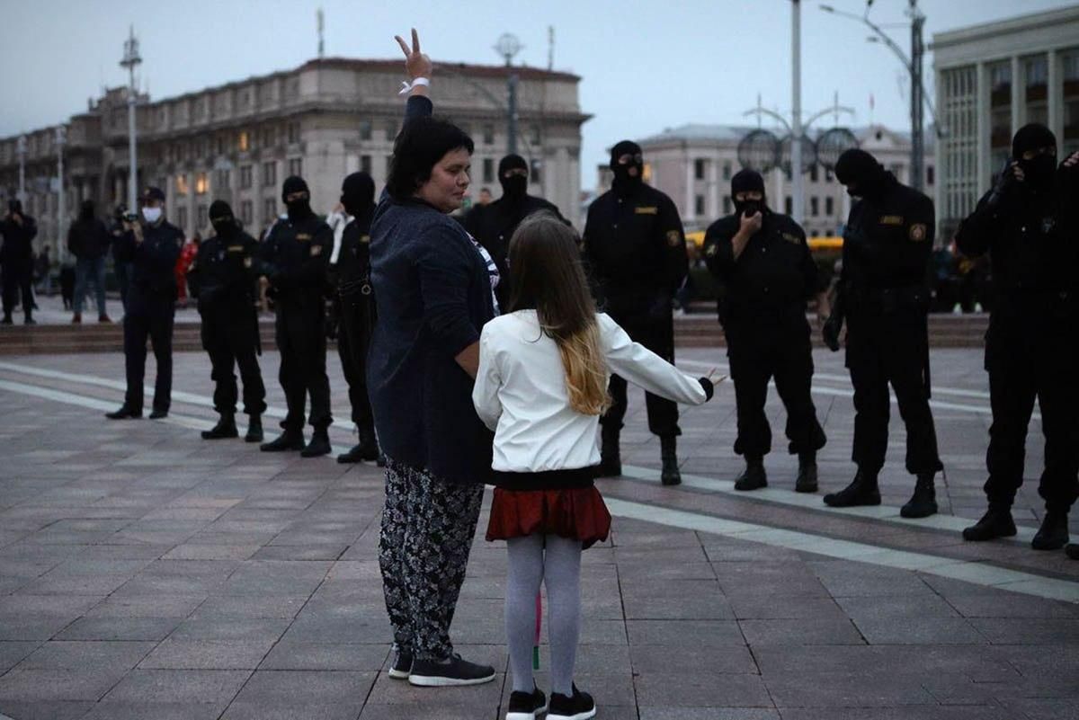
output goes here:
{"type": "Polygon", "coordinates": [[[508,260],[510,311],[483,326],[473,391],[476,412],[495,433],[487,539],[505,540],[509,553],[506,635],[514,692],[506,719],[533,720],[547,707],[532,678],[535,598],[543,582],[551,668],[547,718],[586,720],[596,705],[573,684],[581,552],[605,540],[611,528],[592,483],[610,375],[692,405],[712,397],[713,380],[683,374],[596,311],[576,236],[554,216],[522,222],[508,260]]]}

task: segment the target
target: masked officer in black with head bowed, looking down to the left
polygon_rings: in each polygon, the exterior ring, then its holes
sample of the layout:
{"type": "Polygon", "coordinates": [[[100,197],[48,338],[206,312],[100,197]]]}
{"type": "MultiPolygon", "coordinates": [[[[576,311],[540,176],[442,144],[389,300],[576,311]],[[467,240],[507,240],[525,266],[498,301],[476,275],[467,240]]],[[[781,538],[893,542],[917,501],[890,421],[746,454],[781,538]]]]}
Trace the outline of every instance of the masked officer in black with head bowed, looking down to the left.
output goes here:
{"type": "MultiPolygon", "coordinates": [[[[835,175],[860,198],[850,209],[843,236],[839,278],[847,322],[847,369],[855,386],[855,441],[858,466],[845,489],[824,496],[844,508],[880,504],[877,473],[888,446],[890,403],[896,391],[906,425],[906,470],[917,476],[903,517],[937,512],[933,476],[943,469],[929,410],[928,273],[933,247],[933,203],[901,184],[864,150],[844,152],[835,175]]],[[[825,337],[837,349],[839,315],[833,313],[825,337]]]]}

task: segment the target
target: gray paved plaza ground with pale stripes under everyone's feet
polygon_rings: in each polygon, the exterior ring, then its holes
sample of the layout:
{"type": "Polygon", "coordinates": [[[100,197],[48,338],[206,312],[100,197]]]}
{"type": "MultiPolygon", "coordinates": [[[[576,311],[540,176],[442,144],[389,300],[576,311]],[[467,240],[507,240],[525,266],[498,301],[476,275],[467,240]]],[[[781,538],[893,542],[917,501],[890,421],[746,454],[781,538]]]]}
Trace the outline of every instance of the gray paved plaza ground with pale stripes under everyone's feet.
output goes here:
{"type": "MultiPolygon", "coordinates": [[[[842,355],[815,358],[823,493],[852,476],[853,411],[842,355]]],[[[709,349],[679,360],[700,374],[726,362],[709,349]]],[[[843,511],[793,491],[774,392],[769,487],[745,495],[732,483],[730,387],[684,410],[677,488],[658,482],[658,441],[631,390],[626,476],[600,483],[612,538],[584,556],[576,679],[599,718],[1079,718],[1079,562],[1028,544],[1042,514],[1038,424],[1019,538],[965,543],[959,529],[984,510],[986,378],[980,350],[937,350],[932,363],[945,473],[942,512],[923,521],[899,517],[913,479],[898,412],[884,504],[843,511]]],[[[276,352],[262,357],[268,433],[284,415],[277,364],[276,352]]],[[[152,385],[152,356],[148,365],[152,385]]],[[[0,715],[502,718],[505,549],[483,541],[486,513],[453,638],[496,680],[391,680],[381,471],[201,440],[216,417],[208,360],[177,354],[175,365],[166,420],[107,421],[122,399],[121,355],[0,358],[0,715]]],[[[336,357],[329,365],[331,439],[345,448],[345,386],[336,357]]]]}

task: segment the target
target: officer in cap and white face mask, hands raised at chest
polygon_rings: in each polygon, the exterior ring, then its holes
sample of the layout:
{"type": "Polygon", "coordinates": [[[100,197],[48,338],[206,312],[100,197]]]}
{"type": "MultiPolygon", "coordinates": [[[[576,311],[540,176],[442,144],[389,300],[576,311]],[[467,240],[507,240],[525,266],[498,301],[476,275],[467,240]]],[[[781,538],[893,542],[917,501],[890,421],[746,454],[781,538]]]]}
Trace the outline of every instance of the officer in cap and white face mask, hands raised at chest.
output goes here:
{"type": "Polygon", "coordinates": [[[183,246],[183,232],[165,220],[165,193],[160,189],[147,188],[141,199],[142,219],[126,216],[124,233],[113,246],[117,261],[131,263],[131,287],[124,311],[127,392],[120,410],[106,414],[112,420],[142,416],[147,337],[158,362],[151,419],[168,415],[173,392],[174,269],[183,246]]]}

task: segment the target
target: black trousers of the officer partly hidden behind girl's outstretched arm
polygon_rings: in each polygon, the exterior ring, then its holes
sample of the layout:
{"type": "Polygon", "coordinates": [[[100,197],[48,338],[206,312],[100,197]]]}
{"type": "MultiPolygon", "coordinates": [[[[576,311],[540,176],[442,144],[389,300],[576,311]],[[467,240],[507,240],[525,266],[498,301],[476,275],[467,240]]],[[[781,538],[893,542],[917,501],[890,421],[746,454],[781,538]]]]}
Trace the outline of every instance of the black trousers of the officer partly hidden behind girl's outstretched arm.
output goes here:
{"type": "MultiPolygon", "coordinates": [[[[658,318],[652,316],[611,316],[622,326],[630,338],[648,348],[667,362],[674,362],[674,320],[667,313],[658,318]]],[[[611,407],[600,418],[604,429],[619,430],[626,417],[628,401],[626,398],[626,380],[618,375],[611,375],[607,387],[611,393],[611,407]]],[[[645,407],[648,413],[648,430],[660,438],[671,438],[682,434],[678,426],[678,403],[660,398],[651,392],[644,393],[645,407]]]]}

